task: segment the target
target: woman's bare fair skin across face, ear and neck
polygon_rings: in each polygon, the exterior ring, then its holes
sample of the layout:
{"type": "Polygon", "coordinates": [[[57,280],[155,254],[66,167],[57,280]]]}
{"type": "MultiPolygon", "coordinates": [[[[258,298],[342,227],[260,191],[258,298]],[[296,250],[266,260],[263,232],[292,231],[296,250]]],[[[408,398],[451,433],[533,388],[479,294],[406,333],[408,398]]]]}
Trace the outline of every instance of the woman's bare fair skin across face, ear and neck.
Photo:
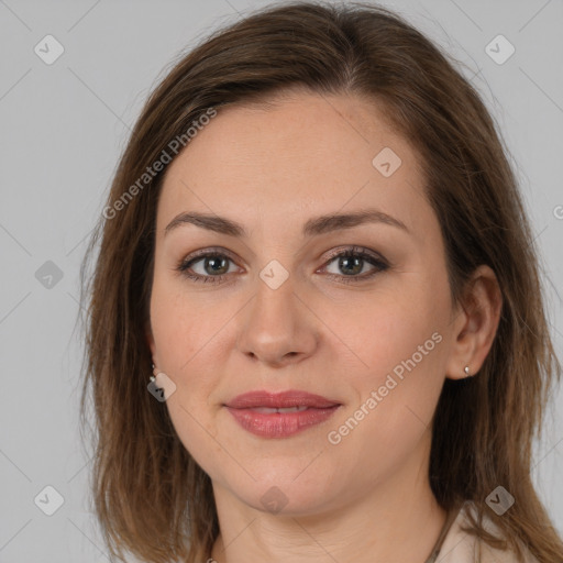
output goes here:
{"type": "MultiPolygon", "coordinates": [[[[417,153],[374,102],[302,91],[275,101],[221,108],[168,167],[157,209],[146,338],[158,371],[177,386],[166,401],[175,429],[212,479],[221,529],[212,558],[423,563],[446,516],[428,481],[431,419],[444,379],[481,368],[498,324],[498,285],[482,266],[463,306],[451,302],[417,153]],[[386,146],[402,161],[390,177],[372,165],[386,146]],[[410,232],[366,223],[301,234],[310,218],[366,208],[410,232]],[[165,235],[184,211],[230,218],[249,236],[194,224],[165,235]],[[351,276],[329,253],[354,245],[389,267],[364,261],[354,275],[375,276],[345,284],[351,276]],[[220,272],[227,280],[197,283],[175,269],[217,246],[232,258],[220,272]],[[277,289],[260,277],[273,260],[288,273],[277,289]],[[331,444],[328,432],[433,333],[440,343],[331,444]],[[260,438],[222,406],[254,389],[302,389],[342,407],[290,438],[260,438]],[[287,503],[278,512],[261,501],[273,486],[287,503]]],[[[191,271],[217,277],[205,260],[191,271]]]]}

